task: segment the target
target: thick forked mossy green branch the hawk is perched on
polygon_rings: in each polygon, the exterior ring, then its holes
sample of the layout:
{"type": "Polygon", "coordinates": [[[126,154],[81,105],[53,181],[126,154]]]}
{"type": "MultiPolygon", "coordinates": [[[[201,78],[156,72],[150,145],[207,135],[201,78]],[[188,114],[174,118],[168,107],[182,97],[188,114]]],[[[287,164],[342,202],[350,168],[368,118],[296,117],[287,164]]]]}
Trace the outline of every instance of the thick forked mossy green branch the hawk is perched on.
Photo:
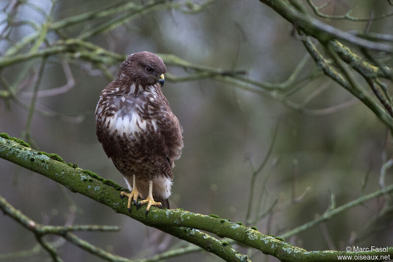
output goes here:
{"type": "MultiPolygon", "coordinates": [[[[141,223],[172,234],[180,239],[194,243],[199,247],[220,256],[226,261],[249,261],[247,256],[240,254],[227,242],[200,232],[200,230],[215,233],[220,237],[228,237],[242,244],[272,255],[281,261],[332,261],[337,255],[381,255],[375,252],[339,252],[315,251],[308,252],[302,248],[272,236],[264,235],[252,228],[232,223],[216,216],[208,216],[180,209],[151,208],[145,215],[143,208],[132,207],[127,210],[127,201],[119,197],[124,190],[111,180],[106,180],[90,171],[77,168],[76,165],[66,164],[56,154],[47,154],[33,150],[20,140],[12,139],[2,133],[0,136],[0,157],[33,172],[66,186],[75,193],[80,193],[97,202],[111,207],[116,213],[130,216],[141,223]]],[[[387,254],[393,256],[393,247],[387,254]]]]}

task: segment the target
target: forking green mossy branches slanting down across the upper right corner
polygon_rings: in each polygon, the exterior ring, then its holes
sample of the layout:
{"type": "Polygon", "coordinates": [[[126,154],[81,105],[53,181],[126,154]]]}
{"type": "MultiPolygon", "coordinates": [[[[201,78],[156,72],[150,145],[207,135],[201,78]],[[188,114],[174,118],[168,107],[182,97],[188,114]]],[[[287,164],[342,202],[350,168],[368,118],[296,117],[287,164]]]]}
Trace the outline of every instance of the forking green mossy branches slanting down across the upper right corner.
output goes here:
{"type": "MultiPolygon", "coordinates": [[[[353,44],[361,50],[378,50],[388,53],[393,53],[392,45],[369,41],[324,24],[307,14],[304,6],[296,0],[260,1],[292,23],[294,28],[293,32],[299,32],[300,38],[309,54],[325,75],[329,76],[332,80],[361,100],[393,133],[393,105],[391,96],[387,91],[386,85],[378,79],[391,79],[392,68],[380,65],[374,66],[368,63],[365,59],[362,59],[338,40],[353,44]],[[330,59],[326,59],[322,56],[311,41],[310,36],[314,37],[326,48],[335,63],[332,63],[330,59]],[[338,68],[338,70],[336,70],[336,68],[338,68]],[[350,68],[353,68],[363,76],[383,108],[373,99],[365,88],[361,87],[361,85],[356,82],[349,70],[350,68]]],[[[311,7],[316,7],[311,1],[309,1],[309,4],[311,4],[311,7]]],[[[322,6],[317,8],[322,8],[322,6]]],[[[296,108],[296,105],[292,107],[296,108]]]]}

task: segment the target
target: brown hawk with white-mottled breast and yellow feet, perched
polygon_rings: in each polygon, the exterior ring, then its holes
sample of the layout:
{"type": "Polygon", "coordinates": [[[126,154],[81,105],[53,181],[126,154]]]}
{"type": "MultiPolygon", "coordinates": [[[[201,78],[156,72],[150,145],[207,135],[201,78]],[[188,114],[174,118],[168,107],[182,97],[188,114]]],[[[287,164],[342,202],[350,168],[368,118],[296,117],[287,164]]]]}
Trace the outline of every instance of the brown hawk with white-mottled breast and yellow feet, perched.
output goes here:
{"type": "Polygon", "coordinates": [[[183,147],[182,127],[161,87],[167,68],[149,52],[135,53],[121,64],[116,79],[102,90],[95,110],[98,141],[124,175],[138,206],[169,208],[173,160],[183,147]]]}

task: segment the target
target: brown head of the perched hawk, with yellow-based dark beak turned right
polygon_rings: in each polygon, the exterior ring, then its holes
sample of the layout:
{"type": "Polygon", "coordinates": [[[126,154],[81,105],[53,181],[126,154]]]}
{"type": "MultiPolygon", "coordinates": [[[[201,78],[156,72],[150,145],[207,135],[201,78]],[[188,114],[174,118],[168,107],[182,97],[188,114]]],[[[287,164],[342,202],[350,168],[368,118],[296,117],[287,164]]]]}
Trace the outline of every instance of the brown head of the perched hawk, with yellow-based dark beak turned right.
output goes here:
{"type": "Polygon", "coordinates": [[[130,55],[121,64],[118,78],[129,78],[132,82],[144,86],[159,83],[164,85],[164,74],[167,67],[164,61],[150,52],[140,52],[130,55]]]}

